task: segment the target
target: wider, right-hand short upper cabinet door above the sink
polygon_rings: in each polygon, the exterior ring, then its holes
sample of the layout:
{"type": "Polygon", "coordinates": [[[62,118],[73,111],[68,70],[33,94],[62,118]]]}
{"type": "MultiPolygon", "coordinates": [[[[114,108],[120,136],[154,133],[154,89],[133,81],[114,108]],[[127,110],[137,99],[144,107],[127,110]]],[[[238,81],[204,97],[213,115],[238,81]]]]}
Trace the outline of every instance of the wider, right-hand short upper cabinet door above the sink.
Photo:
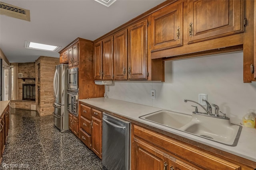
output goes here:
{"type": "Polygon", "coordinates": [[[189,0],[188,43],[244,31],[243,0],[189,0]]]}

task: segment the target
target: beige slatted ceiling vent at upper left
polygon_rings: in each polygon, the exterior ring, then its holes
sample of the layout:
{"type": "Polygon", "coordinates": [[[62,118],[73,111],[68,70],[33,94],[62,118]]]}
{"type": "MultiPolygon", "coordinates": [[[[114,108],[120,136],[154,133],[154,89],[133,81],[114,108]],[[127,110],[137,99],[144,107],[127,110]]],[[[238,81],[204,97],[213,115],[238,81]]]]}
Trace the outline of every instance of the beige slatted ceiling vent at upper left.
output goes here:
{"type": "Polygon", "coordinates": [[[13,18],[18,18],[21,20],[30,21],[30,11],[29,10],[19,8],[18,6],[6,4],[4,2],[0,2],[0,14],[6,15],[9,17],[13,17],[13,18]]]}

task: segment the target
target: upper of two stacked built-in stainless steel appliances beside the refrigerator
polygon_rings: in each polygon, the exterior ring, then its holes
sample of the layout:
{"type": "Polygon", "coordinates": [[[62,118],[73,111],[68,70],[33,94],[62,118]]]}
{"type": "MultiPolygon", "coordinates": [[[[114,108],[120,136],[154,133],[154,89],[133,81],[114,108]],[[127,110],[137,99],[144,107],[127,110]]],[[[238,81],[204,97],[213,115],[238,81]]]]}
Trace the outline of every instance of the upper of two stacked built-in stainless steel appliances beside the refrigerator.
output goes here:
{"type": "Polygon", "coordinates": [[[68,89],[78,90],[78,68],[68,69],[68,89]]]}

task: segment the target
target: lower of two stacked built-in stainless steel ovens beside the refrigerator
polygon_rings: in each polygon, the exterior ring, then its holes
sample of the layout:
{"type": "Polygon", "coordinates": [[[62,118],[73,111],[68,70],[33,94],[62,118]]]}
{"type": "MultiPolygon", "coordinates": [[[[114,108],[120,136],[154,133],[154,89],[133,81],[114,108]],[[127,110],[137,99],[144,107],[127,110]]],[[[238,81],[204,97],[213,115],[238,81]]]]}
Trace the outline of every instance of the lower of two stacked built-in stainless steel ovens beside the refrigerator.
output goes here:
{"type": "Polygon", "coordinates": [[[78,116],[78,93],[68,91],[68,111],[76,116],[78,116]]]}

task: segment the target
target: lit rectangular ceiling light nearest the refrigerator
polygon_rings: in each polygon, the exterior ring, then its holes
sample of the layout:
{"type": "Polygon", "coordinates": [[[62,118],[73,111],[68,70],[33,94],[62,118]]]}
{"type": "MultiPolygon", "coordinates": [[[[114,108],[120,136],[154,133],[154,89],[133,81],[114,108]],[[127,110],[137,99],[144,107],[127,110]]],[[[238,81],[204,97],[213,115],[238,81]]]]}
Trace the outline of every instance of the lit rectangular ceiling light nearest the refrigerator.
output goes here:
{"type": "Polygon", "coordinates": [[[30,41],[25,41],[25,48],[26,49],[35,49],[35,50],[43,50],[43,51],[57,51],[60,49],[60,46],[55,45],[47,45],[41,43],[33,43],[30,41]]]}

